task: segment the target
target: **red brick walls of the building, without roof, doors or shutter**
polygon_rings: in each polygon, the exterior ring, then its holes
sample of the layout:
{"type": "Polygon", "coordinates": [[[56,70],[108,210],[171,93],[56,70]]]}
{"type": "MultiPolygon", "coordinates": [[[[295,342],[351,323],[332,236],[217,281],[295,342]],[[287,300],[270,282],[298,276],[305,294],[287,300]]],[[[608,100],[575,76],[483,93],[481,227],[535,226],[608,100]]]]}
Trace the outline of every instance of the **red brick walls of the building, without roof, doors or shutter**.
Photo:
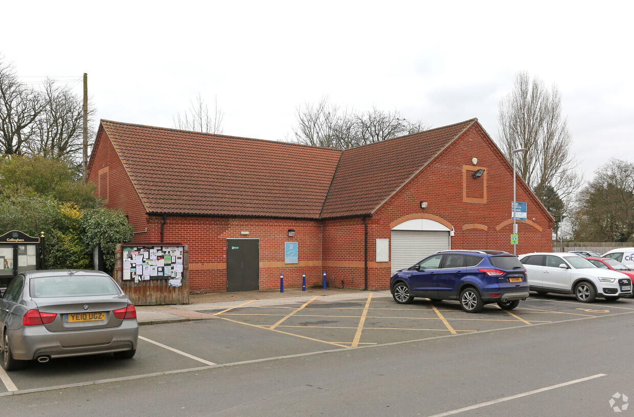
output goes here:
{"type": "MultiPolygon", "coordinates": [[[[145,214],[136,189],[101,129],[97,144],[89,181],[101,184],[103,172],[107,172],[107,207],[129,215],[136,232],[134,241],[160,241],[163,217],[145,214]]],[[[367,288],[387,288],[390,264],[375,262],[375,241],[391,239],[392,227],[408,219],[430,218],[450,226],[455,231],[452,248],[488,248],[512,253],[512,174],[512,167],[481,127],[472,125],[372,217],[366,217],[367,288]],[[472,158],[477,158],[476,165],[472,164],[472,158]],[[484,175],[472,178],[472,173],[479,168],[485,170],[484,175]],[[420,208],[421,201],[428,203],[426,209],[420,208]]],[[[96,193],[100,193],[100,189],[96,193]]],[[[518,222],[517,253],[550,251],[552,220],[521,180],[517,181],[517,201],[527,202],[529,219],[518,222]]],[[[346,287],[365,288],[364,234],[360,217],[313,221],[169,215],[164,225],[164,241],[189,245],[190,290],[200,292],[226,291],[228,238],[259,239],[262,290],[279,288],[280,273],[284,274],[287,287],[301,286],[302,273],[306,273],[307,286],[321,285],[323,271],[327,273],[328,285],[341,286],[343,281],[346,287]],[[295,229],[293,238],[288,237],[288,229],[295,229]],[[241,234],[247,231],[248,235],[241,234]],[[299,245],[298,264],[284,263],[287,241],[296,241],[299,245]]]]}

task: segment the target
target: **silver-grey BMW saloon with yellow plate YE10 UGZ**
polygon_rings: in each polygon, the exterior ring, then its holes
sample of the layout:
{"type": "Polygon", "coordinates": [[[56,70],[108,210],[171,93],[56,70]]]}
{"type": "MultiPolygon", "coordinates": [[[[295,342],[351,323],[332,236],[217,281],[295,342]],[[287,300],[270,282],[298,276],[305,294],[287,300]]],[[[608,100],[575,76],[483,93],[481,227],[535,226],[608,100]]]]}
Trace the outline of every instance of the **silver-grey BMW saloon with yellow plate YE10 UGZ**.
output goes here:
{"type": "Polygon", "coordinates": [[[37,359],[113,352],[134,356],[136,309],[119,285],[99,271],[29,271],[0,298],[4,369],[37,359]]]}

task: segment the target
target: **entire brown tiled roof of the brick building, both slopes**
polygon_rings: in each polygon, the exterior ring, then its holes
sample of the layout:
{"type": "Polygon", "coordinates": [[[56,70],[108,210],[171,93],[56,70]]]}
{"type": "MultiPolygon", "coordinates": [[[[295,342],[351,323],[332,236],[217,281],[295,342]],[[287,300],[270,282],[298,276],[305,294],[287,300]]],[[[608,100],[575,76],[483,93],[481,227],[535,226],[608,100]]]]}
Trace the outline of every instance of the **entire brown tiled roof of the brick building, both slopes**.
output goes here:
{"type": "Polygon", "coordinates": [[[101,120],[148,212],[372,214],[476,119],[349,150],[101,120]]]}

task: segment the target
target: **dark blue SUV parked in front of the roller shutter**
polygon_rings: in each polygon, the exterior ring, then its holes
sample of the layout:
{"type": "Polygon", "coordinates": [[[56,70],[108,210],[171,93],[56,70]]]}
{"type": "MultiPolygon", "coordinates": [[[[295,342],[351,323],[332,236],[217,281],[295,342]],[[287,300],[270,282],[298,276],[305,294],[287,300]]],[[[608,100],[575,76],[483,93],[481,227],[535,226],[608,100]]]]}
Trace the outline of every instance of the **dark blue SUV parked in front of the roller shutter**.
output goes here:
{"type": "Polygon", "coordinates": [[[458,300],[466,312],[496,302],[512,310],[529,295],[526,268],[515,255],[499,250],[445,250],[434,253],[390,279],[394,301],[415,297],[458,300]]]}

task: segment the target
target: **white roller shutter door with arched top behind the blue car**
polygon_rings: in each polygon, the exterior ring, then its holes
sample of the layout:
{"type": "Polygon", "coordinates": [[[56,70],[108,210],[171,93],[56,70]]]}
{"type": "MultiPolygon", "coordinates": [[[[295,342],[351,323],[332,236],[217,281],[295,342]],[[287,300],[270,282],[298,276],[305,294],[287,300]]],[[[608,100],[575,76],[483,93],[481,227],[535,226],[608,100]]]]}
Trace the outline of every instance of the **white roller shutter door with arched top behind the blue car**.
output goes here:
{"type": "Polygon", "coordinates": [[[392,274],[439,250],[449,250],[448,231],[392,230],[392,274]]]}

